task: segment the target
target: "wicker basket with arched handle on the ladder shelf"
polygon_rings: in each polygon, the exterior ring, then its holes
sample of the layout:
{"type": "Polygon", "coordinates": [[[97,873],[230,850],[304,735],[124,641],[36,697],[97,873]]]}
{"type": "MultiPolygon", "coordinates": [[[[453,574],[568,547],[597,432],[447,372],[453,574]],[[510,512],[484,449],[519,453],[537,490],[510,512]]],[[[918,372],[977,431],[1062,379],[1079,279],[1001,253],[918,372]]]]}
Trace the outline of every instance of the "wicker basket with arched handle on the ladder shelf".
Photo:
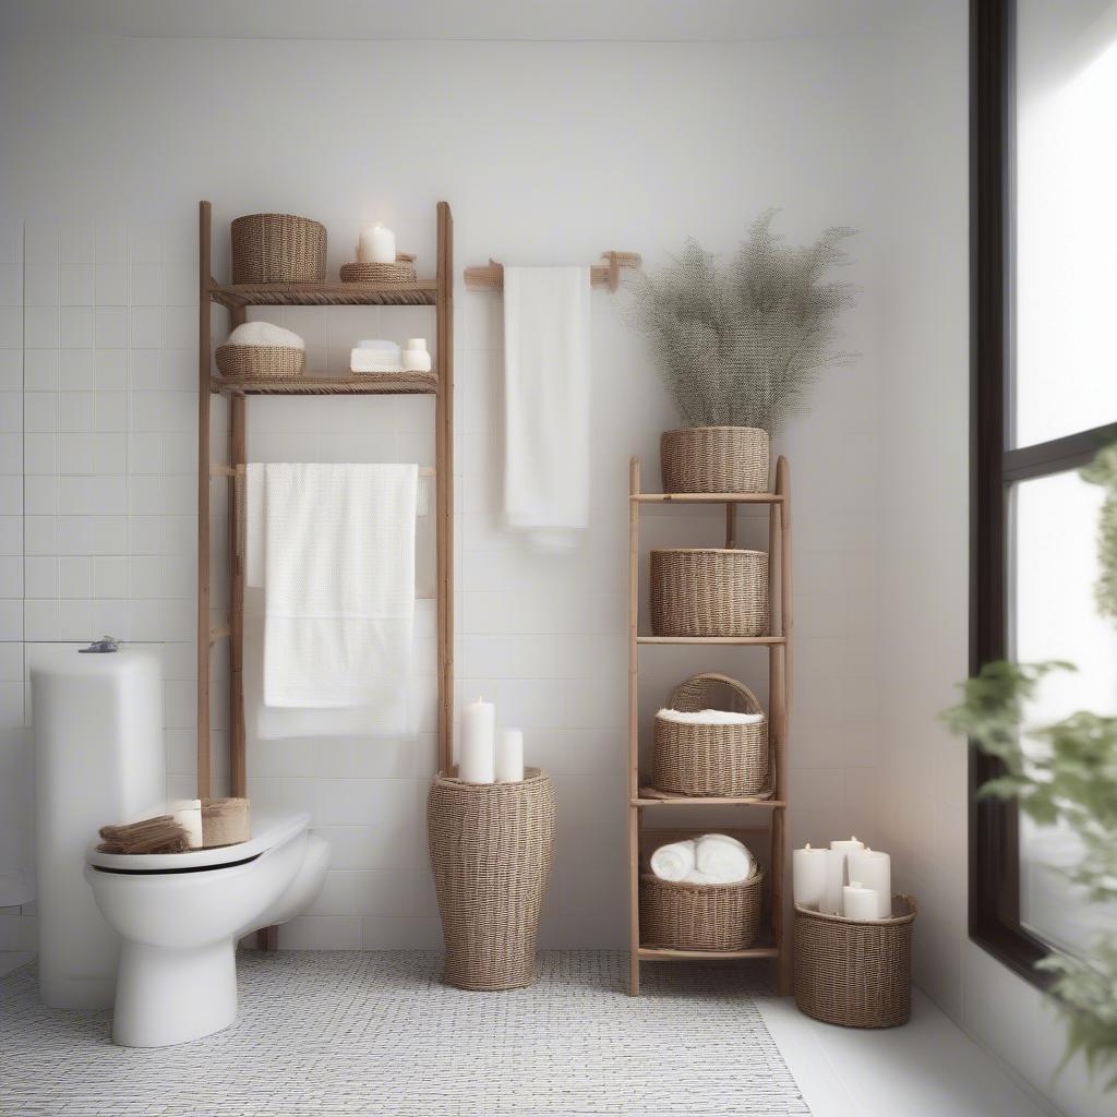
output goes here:
{"type": "MultiPolygon", "coordinates": [[[[732,709],[763,714],[756,695],[727,675],[704,672],[680,682],[671,694],[671,709],[732,709]],[[729,699],[714,703],[719,690],[729,699]]],[[[755,795],[767,786],[767,720],[755,725],[703,725],[656,718],[652,782],[659,791],[678,795],[755,795]]]]}

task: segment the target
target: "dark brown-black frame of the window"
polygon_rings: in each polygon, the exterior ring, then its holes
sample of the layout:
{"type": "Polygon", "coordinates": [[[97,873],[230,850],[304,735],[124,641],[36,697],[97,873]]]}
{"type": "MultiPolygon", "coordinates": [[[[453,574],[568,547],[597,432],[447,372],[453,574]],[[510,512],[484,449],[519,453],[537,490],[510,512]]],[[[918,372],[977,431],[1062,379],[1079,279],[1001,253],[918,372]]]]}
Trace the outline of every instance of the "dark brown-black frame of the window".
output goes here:
{"type": "MultiPolygon", "coordinates": [[[[970,670],[1009,653],[1010,488],[1086,465],[1117,423],[1013,449],[1015,0],[970,4],[971,563],[970,670]]],[[[976,790],[999,762],[970,748],[970,937],[1043,986],[1049,953],[1020,920],[1019,813],[976,790]]]]}

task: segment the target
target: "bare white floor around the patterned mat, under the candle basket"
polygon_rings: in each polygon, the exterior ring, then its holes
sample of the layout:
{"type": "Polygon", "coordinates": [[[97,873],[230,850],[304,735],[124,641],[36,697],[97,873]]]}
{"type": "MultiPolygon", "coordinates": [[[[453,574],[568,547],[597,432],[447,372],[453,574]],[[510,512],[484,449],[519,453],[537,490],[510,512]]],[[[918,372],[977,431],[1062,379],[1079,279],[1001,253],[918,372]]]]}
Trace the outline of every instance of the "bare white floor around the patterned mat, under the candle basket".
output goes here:
{"type": "MultiPolygon", "coordinates": [[[[0,974],[34,955],[0,952],[0,974]]],[[[758,999],[813,1117],[1050,1117],[920,993],[906,1028],[831,1028],[790,1000],[758,999]]]]}

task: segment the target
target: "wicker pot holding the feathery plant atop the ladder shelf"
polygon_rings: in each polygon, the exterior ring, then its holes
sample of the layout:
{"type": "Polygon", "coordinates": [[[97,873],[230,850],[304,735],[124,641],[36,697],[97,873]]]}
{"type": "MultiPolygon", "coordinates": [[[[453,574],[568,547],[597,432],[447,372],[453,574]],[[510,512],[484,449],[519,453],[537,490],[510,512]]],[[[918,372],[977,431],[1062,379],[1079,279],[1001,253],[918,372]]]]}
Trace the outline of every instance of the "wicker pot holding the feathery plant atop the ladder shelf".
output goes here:
{"type": "Polygon", "coordinates": [[[665,430],[659,459],[665,493],[766,493],[767,431],[755,427],[665,430]]]}

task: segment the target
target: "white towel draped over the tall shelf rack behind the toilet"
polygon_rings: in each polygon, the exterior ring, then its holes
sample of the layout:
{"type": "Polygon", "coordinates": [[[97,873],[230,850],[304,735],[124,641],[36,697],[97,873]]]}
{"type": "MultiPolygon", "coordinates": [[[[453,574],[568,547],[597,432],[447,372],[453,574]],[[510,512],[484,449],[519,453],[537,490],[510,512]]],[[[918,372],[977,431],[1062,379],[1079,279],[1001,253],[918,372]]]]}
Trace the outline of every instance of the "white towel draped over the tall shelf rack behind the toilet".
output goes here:
{"type": "Polygon", "coordinates": [[[389,700],[410,675],[418,468],[267,465],[262,502],[259,467],[247,472],[246,580],[265,588],[265,703],[389,700]]]}

